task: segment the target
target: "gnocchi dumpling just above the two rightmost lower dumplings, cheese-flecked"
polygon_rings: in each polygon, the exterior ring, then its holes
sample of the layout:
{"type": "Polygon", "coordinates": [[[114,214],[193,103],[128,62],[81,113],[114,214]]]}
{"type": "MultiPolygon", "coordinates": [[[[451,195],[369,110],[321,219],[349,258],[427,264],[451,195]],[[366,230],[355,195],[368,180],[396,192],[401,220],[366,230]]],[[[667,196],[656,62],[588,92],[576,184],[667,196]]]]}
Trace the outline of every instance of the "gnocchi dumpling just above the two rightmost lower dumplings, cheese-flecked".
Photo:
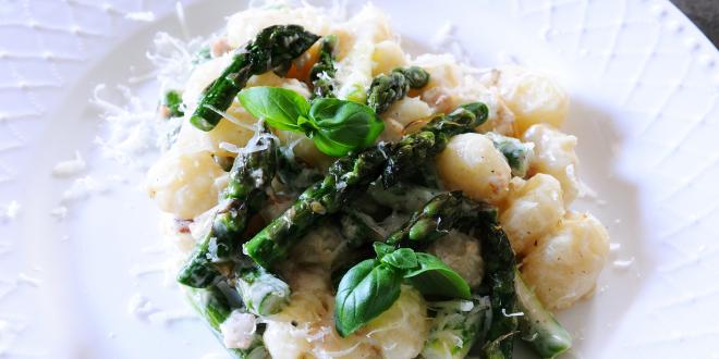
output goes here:
{"type": "Polygon", "coordinates": [[[522,140],[534,144],[534,158],[529,173],[552,175],[562,185],[564,203],[570,205],[580,193],[580,180],[576,165],[580,159],[574,151],[576,137],[566,135],[549,125],[539,124],[529,127],[522,140]]]}

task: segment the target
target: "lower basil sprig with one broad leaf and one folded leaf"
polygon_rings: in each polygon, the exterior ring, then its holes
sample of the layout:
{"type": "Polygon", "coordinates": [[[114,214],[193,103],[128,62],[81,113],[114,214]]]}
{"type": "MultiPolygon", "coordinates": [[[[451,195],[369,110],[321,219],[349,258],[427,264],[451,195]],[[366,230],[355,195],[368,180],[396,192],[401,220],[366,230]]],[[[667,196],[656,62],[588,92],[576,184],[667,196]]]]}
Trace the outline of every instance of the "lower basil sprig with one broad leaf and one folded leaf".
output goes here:
{"type": "Polygon", "coordinates": [[[340,281],[334,298],[334,326],[344,337],[389,309],[400,297],[402,281],[424,295],[470,298],[467,283],[437,257],[375,243],[367,259],[340,281]]]}

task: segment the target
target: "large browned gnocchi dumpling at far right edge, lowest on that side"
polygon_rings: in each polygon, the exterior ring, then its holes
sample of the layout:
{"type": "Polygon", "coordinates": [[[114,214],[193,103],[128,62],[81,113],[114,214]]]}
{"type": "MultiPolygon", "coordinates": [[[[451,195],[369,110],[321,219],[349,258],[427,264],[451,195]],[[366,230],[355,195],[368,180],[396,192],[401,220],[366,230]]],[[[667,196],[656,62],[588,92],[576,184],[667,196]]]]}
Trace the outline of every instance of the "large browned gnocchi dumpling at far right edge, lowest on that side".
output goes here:
{"type": "Polygon", "coordinates": [[[609,253],[609,234],[588,213],[568,212],[522,261],[522,277],[547,308],[568,308],[592,294],[609,253]]]}

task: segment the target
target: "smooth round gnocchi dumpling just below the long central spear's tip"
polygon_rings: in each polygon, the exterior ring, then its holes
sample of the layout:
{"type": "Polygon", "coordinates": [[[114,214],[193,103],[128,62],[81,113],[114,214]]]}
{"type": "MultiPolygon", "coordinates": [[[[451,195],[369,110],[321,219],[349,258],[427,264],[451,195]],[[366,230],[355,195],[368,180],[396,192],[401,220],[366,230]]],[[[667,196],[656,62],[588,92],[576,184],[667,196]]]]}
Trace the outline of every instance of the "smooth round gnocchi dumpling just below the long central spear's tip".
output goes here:
{"type": "Polygon", "coordinates": [[[509,191],[512,170],[484,135],[452,137],[435,163],[447,189],[462,190],[474,200],[498,203],[509,191]]]}

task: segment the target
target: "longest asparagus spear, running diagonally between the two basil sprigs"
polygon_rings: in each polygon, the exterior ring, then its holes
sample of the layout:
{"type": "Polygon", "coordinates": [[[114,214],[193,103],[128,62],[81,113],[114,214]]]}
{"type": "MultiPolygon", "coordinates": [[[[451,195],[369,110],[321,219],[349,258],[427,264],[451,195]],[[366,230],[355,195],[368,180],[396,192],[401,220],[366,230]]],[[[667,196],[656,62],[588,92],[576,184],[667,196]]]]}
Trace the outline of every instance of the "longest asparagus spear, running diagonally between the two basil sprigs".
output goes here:
{"type": "Polygon", "coordinates": [[[292,246],[319,219],[337,213],[350,199],[366,191],[380,173],[392,180],[402,178],[402,174],[393,171],[410,172],[409,164],[434,156],[451,136],[472,131],[486,119],[484,103],[465,104],[449,115],[437,116],[427,129],[404,136],[397,145],[378,144],[340,158],[321,182],[307,188],[290,209],[247,242],[244,252],[259,265],[271,267],[287,258],[292,246]]]}

